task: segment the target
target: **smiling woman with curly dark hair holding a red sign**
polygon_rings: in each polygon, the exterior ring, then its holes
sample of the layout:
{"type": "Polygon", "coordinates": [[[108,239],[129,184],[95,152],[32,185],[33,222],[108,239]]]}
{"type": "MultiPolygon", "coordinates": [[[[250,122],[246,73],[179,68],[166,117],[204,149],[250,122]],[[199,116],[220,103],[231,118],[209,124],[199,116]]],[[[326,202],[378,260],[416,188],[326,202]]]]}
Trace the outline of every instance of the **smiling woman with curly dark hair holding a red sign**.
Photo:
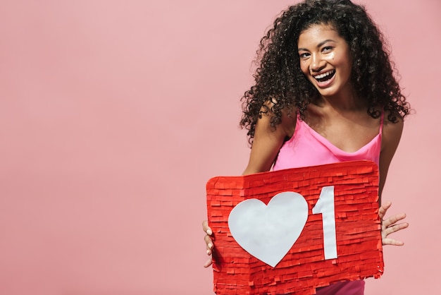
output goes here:
{"type": "MultiPolygon", "coordinates": [[[[367,159],[378,164],[381,197],[410,107],[364,7],[302,1],[282,12],[260,44],[255,83],[242,97],[241,124],[251,143],[244,174],[367,159]]],[[[390,203],[379,198],[379,205],[383,219],[390,203]]],[[[383,220],[383,245],[403,244],[389,235],[408,226],[397,223],[404,217],[383,220]]],[[[207,222],[204,231],[211,255],[207,222]]],[[[364,281],[316,291],[360,295],[364,281]]]]}

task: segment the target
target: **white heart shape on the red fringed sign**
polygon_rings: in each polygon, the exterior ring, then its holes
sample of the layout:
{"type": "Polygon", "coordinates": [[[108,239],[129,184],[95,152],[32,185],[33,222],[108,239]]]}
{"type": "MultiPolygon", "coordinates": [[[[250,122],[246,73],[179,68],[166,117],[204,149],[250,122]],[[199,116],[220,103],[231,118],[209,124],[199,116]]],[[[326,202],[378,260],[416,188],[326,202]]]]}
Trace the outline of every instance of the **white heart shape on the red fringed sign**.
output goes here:
{"type": "Polygon", "coordinates": [[[308,219],[302,195],[286,191],[268,205],[249,199],[237,204],[228,217],[233,238],[249,254],[275,267],[299,238],[308,219]]]}

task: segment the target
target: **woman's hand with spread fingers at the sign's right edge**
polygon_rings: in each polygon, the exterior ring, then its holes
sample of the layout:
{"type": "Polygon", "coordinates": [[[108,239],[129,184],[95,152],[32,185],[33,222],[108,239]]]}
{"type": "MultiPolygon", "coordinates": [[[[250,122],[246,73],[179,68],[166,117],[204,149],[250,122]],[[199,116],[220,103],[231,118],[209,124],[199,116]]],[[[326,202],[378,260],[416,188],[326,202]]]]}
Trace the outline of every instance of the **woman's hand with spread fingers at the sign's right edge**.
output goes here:
{"type": "Polygon", "coordinates": [[[390,208],[390,205],[392,205],[391,202],[386,202],[385,204],[381,205],[380,209],[378,210],[378,215],[380,215],[381,219],[381,241],[383,242],[383,245],[403,246],[404,242],[390,239],[388,238],[388,236],[395,233],[395,231],[406,229],[407,227],[409,227],[409,223],[397,223],[400,220],[406,218],[406,214],[404,213],[394,215],[387,219],[383,219],[383,217],[385,217],[386,215],[387,210],[390,208]]]}

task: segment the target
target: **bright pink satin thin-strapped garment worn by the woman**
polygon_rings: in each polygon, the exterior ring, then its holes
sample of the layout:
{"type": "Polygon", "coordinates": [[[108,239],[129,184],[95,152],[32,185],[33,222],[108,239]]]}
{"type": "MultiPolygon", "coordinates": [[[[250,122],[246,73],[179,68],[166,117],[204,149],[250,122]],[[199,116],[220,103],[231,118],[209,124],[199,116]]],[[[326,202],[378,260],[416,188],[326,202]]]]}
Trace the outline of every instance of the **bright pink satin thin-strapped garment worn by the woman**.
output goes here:
{"type": "MultiPolygon", "coordinates": [[[[308,167],[335,162],[368,159],[377,164],[380,160],[381,133],[384,112],[381,114],[380,131],[363,148],[356,152],[344,152],[318,134],[297,116],[294,135],[280,148],[273,170],[308,167]]],[[[364,281],[339,282],[328,287],[318,288],[317,295],[363,295],[364,281]]]]}

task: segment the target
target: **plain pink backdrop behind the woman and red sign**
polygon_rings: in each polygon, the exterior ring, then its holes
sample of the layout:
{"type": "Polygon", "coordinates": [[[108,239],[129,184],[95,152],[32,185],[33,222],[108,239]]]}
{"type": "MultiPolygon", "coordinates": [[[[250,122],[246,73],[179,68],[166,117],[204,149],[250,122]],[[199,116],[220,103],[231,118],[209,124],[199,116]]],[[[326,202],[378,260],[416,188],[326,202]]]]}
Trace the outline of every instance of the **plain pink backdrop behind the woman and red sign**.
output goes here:
{"type": "MultiPolygon", "coordinates": [[[[433,294],[441,2],[363,1],[417,111],[383,194],[406,246],[366,294],[433,294]]],[[[292,3],[1,1],[0,293],[212,294],[205,183],[247,163],[239,99],[292,3]]]]}

